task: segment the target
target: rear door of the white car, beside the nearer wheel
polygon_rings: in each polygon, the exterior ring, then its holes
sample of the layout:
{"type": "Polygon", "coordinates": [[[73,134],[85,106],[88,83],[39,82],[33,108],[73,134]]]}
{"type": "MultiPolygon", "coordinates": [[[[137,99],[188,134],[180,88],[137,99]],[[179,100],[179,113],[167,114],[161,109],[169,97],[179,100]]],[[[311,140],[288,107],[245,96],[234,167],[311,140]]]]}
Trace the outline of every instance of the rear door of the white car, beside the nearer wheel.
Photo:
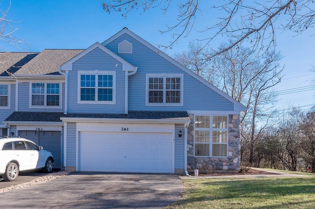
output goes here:
{"type": "Polygon", "coordinates": [[[14,154],[20,164],[20,171],[31,169],[31,153],[24,141],[13,141],[14,154]]]}

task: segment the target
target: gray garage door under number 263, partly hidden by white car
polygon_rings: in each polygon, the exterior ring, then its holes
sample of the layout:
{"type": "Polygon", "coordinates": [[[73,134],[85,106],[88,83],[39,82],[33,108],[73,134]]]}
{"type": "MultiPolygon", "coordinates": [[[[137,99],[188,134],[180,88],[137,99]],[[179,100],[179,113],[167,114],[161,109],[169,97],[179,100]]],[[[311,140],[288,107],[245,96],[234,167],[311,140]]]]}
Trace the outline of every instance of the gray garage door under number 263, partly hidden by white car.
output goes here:
{"type": "Polygon", "coordinates": [[[61,131],[18,131],[22,138],[42,146],[54,156],[54,168],[61,168],[61,131]]]}

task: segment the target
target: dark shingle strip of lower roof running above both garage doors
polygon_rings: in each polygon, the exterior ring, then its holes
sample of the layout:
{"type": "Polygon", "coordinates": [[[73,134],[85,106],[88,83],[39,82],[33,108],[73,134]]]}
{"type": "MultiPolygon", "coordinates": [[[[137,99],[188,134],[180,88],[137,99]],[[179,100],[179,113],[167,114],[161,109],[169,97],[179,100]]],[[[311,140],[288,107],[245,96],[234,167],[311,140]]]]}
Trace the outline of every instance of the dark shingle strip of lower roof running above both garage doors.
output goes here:
{"type": "Polygon", "coordinates": [[[113,118],[113,119],[172,119],[172,120],[189,120],[186,111],[129,111],[125,114],[83,114],[69,113],[64,115],[63,112],[13,112],[5,119],[9,121],[32,121],[32,122],[61,122],[60,117],[66,118],[113,118]]]}

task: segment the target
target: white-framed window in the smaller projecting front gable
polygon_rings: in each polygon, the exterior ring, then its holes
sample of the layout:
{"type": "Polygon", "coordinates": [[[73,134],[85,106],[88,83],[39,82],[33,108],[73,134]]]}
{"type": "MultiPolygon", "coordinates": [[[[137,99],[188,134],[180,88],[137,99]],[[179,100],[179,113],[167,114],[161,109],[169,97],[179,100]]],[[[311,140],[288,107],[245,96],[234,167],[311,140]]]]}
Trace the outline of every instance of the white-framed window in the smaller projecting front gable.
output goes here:
{"type": "Polygon", "coordinates": [[[79,71],[78,103],[115,104],[115,71],[79,71]]]}

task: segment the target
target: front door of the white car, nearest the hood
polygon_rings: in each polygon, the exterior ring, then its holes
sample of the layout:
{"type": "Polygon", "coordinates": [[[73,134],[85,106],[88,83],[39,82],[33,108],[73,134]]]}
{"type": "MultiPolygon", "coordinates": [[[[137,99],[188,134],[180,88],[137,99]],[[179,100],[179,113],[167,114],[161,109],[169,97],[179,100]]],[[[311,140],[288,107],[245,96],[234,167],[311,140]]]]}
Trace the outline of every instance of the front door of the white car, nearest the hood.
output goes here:
{"type": "Polygon", "coordinates": [[[25,141],[28,152],[31,153],[31,169],[42,168],[45,166],[45,159],[42,152],[40,152],[39,147],[29,141],[25,141]]]}

